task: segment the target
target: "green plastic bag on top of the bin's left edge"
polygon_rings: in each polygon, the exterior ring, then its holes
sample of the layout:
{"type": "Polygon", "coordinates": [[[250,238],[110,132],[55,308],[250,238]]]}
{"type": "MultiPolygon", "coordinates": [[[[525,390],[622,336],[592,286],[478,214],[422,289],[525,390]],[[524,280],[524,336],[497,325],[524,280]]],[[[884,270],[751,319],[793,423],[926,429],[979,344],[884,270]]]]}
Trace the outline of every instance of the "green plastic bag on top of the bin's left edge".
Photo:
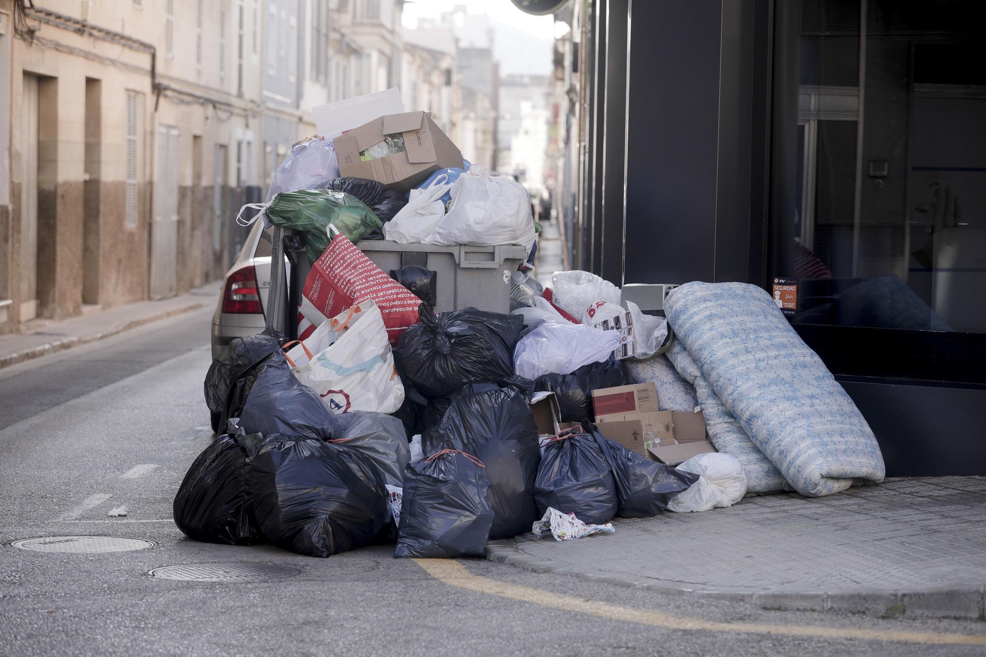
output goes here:
{"type": "Polygon", "coordinates": [[[334,189],[282,191],[263,213],[275,226],[301,231],[312,264],[328,247],[325,229],[329,224],[353,244],[384,225],[366,203],[334,189]]]}

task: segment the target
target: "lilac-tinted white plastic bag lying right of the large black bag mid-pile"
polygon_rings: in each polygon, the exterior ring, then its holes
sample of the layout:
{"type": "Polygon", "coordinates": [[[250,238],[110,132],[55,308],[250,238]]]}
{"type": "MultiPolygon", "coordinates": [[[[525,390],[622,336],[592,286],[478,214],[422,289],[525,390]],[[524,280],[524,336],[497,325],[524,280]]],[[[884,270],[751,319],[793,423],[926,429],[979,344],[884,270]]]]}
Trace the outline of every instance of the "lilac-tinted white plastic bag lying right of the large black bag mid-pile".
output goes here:
{"type": "Polygon", "coordinates": [[[514,372],[531,380],[542,374],[571,374],[583,365],[608,358],[620,341],[618,330],[542,322],[517,343],[514,372]]]}

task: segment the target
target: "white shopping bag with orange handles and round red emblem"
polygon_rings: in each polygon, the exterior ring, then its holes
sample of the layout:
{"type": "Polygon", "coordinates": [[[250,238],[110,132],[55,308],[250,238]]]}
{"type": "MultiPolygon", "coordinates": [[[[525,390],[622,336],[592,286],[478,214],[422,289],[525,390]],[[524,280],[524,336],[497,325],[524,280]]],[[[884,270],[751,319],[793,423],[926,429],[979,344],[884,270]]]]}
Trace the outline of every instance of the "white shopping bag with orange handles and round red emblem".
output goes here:
{"type": "Polygon", "coordinates": [[[288,363],[298,380],[314,390],[334,413],[397,410],[404,401],[404,387],[393,366],[393,352],[380,307],[373,301],[364,301],[322,323],[318,329],[323,327],[327,327],[326,332],[318,337],[317,332],[313,333],[287,352],[288,363]],[[317,338],[315,342],[313,338],[317,338]],[[309,348],[309,343],[316,342],[328,345],[320,351],[309,348]],[[298,355],[299,347],[308,356],[300,365],[291,355],[298,355]]]}

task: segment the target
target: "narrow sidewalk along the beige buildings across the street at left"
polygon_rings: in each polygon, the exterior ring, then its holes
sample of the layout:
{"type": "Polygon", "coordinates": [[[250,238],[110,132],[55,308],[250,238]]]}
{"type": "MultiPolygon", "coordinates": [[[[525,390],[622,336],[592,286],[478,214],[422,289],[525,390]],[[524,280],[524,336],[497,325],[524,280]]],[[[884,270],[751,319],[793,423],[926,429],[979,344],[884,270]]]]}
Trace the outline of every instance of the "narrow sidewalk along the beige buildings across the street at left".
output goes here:
{"type": "Polygon", "coordinates": [[[92,311],[60,322],[35,321],[29,332],[0,335],[0,368],[37,356],[86,344],[202,306],[213,306],[221,281],[215,281],[161,301],[138,301],[109,310],[92,311]]]}

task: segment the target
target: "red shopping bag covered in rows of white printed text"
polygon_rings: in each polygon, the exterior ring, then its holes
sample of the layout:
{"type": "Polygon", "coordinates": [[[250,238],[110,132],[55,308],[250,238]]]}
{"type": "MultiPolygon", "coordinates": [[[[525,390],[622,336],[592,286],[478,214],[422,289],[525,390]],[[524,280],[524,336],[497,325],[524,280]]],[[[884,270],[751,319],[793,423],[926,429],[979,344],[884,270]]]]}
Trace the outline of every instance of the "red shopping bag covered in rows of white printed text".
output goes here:
{"type": "Polygon", "coordinates": [[[391,345],[396,346],[400,334],[420,322],[421,300],[344,235],[336,235],[305,279],[298,314],[299,339],[306,339],[322,322],[368,299],[380,307],[391,345]]]}

